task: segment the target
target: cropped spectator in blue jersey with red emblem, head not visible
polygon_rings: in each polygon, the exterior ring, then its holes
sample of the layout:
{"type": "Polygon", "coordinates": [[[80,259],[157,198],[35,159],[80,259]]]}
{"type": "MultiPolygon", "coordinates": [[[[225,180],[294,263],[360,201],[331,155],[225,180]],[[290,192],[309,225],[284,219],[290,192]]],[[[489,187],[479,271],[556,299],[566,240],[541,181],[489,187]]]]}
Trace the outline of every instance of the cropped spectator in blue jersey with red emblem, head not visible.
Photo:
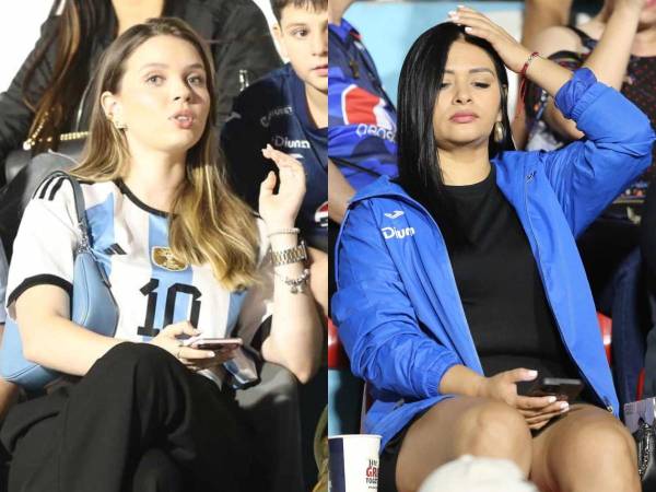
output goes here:
{"type": "MultiPolygon", "coordinates": [[[[344,17],[355,0],[328,4],[328,224],[329,249],[355,191],[382,175],[396,176],[396,108],[360,33],[344,17]]],[[[336,291],[329,258],[328,292],[336,291]]]]}

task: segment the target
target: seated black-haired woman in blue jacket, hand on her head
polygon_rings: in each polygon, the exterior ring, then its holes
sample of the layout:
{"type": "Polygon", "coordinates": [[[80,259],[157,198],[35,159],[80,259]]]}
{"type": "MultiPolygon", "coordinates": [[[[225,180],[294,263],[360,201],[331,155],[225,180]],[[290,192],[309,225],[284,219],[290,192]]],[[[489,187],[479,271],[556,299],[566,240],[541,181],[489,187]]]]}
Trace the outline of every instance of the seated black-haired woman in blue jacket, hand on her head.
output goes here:
{"type": "Polygon", "coordinates": [[[574,237],[648,165],[654,132],[591,70],[572,74],[471,9],[452,21],[401,69],[398,183],[359,191],[337,247],[332,314],[374,398],[379,491],[414,491],[464,454],[512,459],[541,490],[639,491],[574,237]],[[514,151],[504,66],[587,140],[514,151]],[[538,375],[585,390],[529,396],[538,375]]]}

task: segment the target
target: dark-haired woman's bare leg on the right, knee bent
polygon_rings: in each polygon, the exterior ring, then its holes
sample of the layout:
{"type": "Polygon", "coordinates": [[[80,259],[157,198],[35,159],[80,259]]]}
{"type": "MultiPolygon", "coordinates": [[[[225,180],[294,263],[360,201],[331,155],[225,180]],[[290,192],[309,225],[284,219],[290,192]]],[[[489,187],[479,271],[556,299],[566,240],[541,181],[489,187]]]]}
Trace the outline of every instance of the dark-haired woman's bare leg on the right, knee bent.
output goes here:
{"type": "Polygon", "coordinates": [[[606,410],[572,406],[534,440],[530,479],[543,492],[640,492],[635,443],[606,410]]]}

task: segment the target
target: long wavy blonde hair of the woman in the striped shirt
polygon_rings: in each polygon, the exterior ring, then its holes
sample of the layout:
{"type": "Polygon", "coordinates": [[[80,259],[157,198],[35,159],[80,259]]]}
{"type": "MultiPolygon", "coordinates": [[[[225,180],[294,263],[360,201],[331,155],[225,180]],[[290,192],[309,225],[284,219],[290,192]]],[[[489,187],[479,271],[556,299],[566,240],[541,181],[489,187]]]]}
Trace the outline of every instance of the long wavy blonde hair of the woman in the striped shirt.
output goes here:
{"type": "Polygon", "coordinates": [[[214,68],[203,42],[179,19],[151,19],[130,27],[105,51],[95,75],[90,136],[80,165],[71,174],[82,179],[107,181],[127,171],[129,151],[125,134],[107,119],[101,94],[117,94],[130,55],[154,36],[175,36],[190,43],[202,58],[210,114],[200,140],[187,151],[186,179],[169,214],[168,243],[176,259],[191,265],[209,262],[214,277],[230,290],[256,281],[258,233],[253,211],[227,185],[214,127],[214,68]]]}

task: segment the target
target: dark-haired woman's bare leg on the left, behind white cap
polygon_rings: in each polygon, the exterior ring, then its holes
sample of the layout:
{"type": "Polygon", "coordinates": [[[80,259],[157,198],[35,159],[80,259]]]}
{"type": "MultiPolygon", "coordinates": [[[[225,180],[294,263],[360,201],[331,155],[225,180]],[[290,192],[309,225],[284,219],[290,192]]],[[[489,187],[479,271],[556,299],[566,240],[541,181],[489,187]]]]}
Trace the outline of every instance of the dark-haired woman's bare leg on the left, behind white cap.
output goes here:
{"type": "Polygon", "coordinates": [[[435,405],[408,430],[396,469],[399,492],[413,492],[438,466],[461,455],[506,458],[528,476],[531,436],[514,408],[484,398],[435,405]]]}

